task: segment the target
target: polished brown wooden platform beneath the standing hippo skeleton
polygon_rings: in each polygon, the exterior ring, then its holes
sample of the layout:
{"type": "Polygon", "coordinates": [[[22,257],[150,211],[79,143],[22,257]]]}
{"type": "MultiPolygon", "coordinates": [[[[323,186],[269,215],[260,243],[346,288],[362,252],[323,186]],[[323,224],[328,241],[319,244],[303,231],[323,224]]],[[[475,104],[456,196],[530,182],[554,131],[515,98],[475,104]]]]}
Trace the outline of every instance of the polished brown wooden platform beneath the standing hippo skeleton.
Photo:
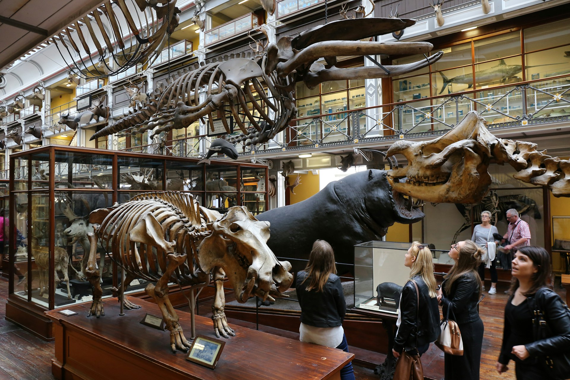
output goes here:
{"type": "MultiPolygon", "coordinates": [[[[146,313],[160,315],[156,304],[133,297],[143,308],[119,316],[116,299],[103,301],[105,316],[87,317],[90,303],[71,305],[77,312],[64,316],[57,310],[46,315],[54,322],[55,358],[52,374],[63,379],[340,379],[340,370],[353,354],[307,344],[230,325],[235,337],[226,345],[214,370],[172,354],[169,333],[140,324],[146,313]]],[[[190,314],[177,311],[186,338],[190,314]]],[[[212,321],[196,316],[196,332],[214,336],[212,321]]],[[[224,338],[221,338],[224,339],[224,338]]]]}

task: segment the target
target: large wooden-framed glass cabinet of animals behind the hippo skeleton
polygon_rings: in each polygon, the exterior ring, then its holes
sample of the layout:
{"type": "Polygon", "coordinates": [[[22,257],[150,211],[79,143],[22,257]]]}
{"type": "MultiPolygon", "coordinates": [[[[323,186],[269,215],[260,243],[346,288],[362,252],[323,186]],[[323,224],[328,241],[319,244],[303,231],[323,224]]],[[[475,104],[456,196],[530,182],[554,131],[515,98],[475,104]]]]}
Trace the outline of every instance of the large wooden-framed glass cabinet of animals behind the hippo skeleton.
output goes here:
{"type": "MultiPolygon", "coordinates": [[[[93,230],[88,215],[93,210],[127,202],[140,193],[168,190],[190,193],[200,205],[209,202],[222,213],[234,205],[246,206],[254,214],[267,209],[267,186],[260,186],[267,181],[266,166],[247,164],[242,169],[238,162],[208,166],[197,162],[197,158],[59,145],[12,154],[8,219],[14,223],[6,223],[10,242],[6,318],[51,340],[45,310],[91,302],[91,285],[84,281],[82,268],[90,247],[87,232],[93,230]]],[[[120,284],[121,270],[103,247],[98,254],[103,296],[111,297],[120,284]]],[[[143,280],[134,280],[127,293],[144,297],[145,286],[143,280]]]]}

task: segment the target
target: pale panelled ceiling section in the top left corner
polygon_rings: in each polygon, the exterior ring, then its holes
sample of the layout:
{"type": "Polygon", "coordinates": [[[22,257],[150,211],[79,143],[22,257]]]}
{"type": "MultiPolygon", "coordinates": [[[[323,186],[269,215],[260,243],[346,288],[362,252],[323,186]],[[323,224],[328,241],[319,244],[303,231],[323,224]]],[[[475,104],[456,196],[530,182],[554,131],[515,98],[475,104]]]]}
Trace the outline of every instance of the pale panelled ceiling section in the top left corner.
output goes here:
{"type": "Polygon", "coordinates": [[[102,0],[0,0],[0,16],[41,28],[46,34],[0,22],[0,69],[21,58],[102,0]]]}

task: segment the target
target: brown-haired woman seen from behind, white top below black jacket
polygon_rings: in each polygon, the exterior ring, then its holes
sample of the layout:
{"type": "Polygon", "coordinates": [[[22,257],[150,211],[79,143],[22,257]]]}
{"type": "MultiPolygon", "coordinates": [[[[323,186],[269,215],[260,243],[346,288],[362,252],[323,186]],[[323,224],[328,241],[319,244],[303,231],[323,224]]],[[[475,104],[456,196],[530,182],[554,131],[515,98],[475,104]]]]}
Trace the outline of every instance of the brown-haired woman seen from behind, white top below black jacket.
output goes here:
{"type": "MultiPolygon", "coordinates": [[[[296,290],[301,307],[300,341],[348,352],[343,329],[347,305],[331,244],[316,240],[307,267],[297,273],[296,290]]],[[[352,362],[343,367],[340,378],[354,380],[352,362]]]]}

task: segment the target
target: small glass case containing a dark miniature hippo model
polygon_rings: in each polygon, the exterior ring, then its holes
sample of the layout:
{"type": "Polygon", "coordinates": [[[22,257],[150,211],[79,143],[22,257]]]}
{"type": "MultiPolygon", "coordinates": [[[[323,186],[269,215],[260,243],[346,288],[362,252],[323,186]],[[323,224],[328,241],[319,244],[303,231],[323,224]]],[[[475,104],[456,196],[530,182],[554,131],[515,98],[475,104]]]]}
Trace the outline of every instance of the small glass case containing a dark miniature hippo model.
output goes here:
{"type": "Polygon", "coordinates": [[[404,255],[411,246],[380,241],[355,246],[355,308],[397,314],[401,288],[410,276],[404,255]]]}

